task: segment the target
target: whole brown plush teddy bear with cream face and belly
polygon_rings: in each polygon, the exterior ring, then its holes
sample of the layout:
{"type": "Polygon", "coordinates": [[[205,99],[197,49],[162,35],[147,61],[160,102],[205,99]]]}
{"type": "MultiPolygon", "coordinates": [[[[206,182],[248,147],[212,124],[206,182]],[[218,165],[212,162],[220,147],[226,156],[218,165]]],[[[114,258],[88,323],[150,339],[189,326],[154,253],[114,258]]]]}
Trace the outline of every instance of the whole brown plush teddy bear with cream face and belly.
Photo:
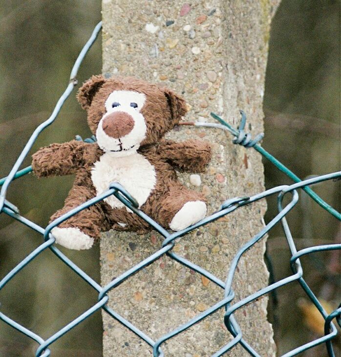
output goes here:
{"type": "MultiPolygon", "coordinates": [[[[38,177],[76,174],[64,207],[51,221],[106,191],[112,182],[119,182],[166,229],[179,231],[205,217],[204,197],[181,185],[174,168],[203,171],[211,158],[210,145],[162,139],[186,113],[181,97],[140,79],[98,75],[83,84],[78,100],[97,142],[54,143],[32,157],[38,177]]],[[[112,228],[143,233],[150,226],[112,195],[51,233],[57,243],[79,250],[90,248],[102,231],[112,228]]]]}

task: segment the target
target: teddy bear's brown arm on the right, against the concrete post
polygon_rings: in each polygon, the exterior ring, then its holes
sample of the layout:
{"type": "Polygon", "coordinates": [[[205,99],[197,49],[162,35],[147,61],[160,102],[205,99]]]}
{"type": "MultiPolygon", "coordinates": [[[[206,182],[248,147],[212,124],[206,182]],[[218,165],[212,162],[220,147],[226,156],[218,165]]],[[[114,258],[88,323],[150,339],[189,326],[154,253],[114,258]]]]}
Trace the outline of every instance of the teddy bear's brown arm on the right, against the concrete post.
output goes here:
{"type": "Polygon", "coordinates": [[[201,140],[191,139],[181,143],[163,140],[158,148],[166,161],[189,172],[203,172],[211,160],[211,145],[201,140]]]}

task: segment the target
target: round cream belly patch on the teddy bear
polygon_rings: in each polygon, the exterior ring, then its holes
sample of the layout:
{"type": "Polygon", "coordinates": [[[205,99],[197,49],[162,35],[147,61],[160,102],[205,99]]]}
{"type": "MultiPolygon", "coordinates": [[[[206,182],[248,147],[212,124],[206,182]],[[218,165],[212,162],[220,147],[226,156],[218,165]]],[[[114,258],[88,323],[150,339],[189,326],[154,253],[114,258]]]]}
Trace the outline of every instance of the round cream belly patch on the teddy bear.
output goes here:
{"type": "MultiPolygon", "coordinates": [[[[97,194],[106,191],[112,182],[120,183],[141,207],[155,187],[156,173],[149,161],[138,153],[125,157],[114,157],[106,152],[92,168],[91,179],[97,194]]],[[[104,201],[112,208],[125,207],[113,195],[105,198],[104,201]]],[[[128,208],[127,210],[130,211],[128,208]]]]}

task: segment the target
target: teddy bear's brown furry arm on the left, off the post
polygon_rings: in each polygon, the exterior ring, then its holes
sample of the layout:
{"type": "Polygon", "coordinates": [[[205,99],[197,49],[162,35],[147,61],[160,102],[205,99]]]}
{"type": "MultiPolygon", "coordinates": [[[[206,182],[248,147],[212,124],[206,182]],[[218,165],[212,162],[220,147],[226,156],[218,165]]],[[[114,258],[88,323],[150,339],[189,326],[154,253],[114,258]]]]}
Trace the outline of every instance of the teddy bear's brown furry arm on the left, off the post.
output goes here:
{"type": "Polygon", "coordinates": [[[32,155],[32,168],[38,177],[62,176],[75,173],[85,164],[87,146],[91,144],[72,140],[41,147],[32,155]]]}

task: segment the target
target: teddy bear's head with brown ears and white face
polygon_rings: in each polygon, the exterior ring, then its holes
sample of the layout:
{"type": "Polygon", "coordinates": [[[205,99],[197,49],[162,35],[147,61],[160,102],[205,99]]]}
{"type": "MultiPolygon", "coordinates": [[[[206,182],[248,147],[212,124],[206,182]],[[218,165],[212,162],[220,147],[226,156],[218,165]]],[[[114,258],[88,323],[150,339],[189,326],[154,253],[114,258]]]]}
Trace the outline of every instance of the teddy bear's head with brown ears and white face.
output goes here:
{"type": "Polygon", "coordinates": [[[98,145],[114,156],[156,143],[187,112],[174,92],[132,77],[92,76],[80,88],[78,101],[98,145]]]}

